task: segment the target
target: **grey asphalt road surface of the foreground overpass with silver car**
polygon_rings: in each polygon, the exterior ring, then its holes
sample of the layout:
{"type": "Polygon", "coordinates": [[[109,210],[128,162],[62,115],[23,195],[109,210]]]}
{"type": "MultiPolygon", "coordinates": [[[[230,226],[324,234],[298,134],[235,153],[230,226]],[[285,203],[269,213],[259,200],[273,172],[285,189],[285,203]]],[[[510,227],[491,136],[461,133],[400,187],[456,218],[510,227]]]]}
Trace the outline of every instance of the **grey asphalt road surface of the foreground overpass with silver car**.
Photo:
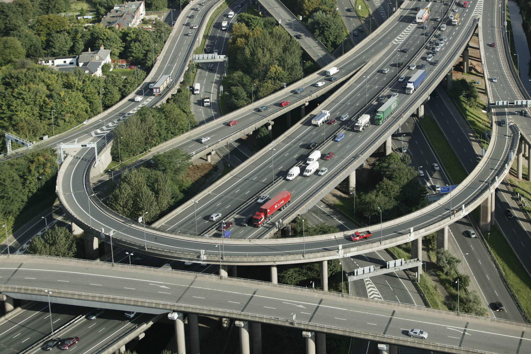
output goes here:
{"type": "MultiPolygon", "coordinates": [[[[19,258],[22,260],[22,258],[19,258]]],[[[26,258],[22,263],[16,257],[0,256],[0,276],[8,278],[6,285],[27,287],[48,287],[59,289],[134,297],[164,301],[168,308],[179,305],[199,306],[196,310],[215,309],[233,311],[238,318],[242,313],[285,319],[286,325],[296,314],[301,325],[307,323],[341,327],[343,329],[370,332],[392,336],[406,345],[409,342],[407,330],[421,328],[429,333],[424,346],[456,346],[498,353],[527,352],[531,350],[529,327],[525,324],[496,322],[481,317],[461,317],[448,312],[433,313],[423,307],[392,305],[388,302],[371,301],[355,297],[335,297],[326,293],[262,282],[237,282],[220,280],[200,274],[185,275],[179,272],[157,272],[136,267],[119,268],[101,262],[50,260],[26,258]],[[156,273],[154,273],[156,272],[156,273]],[[28,279],[28,275],[31,279],[28,279]],[[57,279],[68,281],[58,282],[57,279]],[[97,284],[97,286],[92,285],[97,284]],[[152,284],[152,285],[149,285],[152,284]],[[164,286],[160,291],[160,286],[164,286]],[[134,289],[134,292],[131,291],[134,289]],[[433,345],[435,344],[435,345],[433,345]]],[[[67,296],[67,294],[62,294],[67,296]]],[[[102,298],[105,301],[104,298],[102,298]]],[[[260,320],[258,320],[260,321],[260,320]]],[[[327,331],[323,328],[323,331],[327,331]]],[[[346,332],[345,332],[346,333],[346,332]]],[[[358,333],[352,336],[363,336],[358,333]]],[[[382,338],[385,341],[385,338],[382,338]]]]}

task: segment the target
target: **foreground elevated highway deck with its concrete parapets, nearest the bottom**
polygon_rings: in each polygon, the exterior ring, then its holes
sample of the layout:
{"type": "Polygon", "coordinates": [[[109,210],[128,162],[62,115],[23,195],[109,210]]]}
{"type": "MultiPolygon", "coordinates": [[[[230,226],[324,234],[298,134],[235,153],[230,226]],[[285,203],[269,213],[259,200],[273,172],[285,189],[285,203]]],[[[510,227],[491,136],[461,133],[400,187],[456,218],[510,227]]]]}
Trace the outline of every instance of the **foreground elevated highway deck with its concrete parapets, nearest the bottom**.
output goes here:
{"type": "Polygon", "coordinates": [[[244,279],[25,255],[0,256],[0,276],[15,298],[41,298],[47,287],[63,304],[213,315],[449,353],[531,351],[527,324],[244,279]],[[429,337],[409,338],[410,328],[429,337]]]}

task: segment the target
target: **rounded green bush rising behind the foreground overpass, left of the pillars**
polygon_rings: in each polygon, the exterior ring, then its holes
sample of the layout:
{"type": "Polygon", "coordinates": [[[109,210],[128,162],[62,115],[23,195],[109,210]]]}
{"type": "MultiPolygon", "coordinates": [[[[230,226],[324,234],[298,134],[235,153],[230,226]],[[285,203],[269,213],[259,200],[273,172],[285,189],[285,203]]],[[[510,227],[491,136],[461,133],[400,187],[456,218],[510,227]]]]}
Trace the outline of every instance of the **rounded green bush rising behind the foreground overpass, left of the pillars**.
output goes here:
{"type": "Polygon", "coordinates": [[[44,256],[69,257],[75,256],[77,249],[74,235],[65,227],[54,226],[39,236],[34,236],[28,246],[28,252],[44,256]]]}

